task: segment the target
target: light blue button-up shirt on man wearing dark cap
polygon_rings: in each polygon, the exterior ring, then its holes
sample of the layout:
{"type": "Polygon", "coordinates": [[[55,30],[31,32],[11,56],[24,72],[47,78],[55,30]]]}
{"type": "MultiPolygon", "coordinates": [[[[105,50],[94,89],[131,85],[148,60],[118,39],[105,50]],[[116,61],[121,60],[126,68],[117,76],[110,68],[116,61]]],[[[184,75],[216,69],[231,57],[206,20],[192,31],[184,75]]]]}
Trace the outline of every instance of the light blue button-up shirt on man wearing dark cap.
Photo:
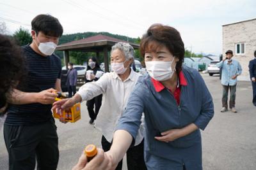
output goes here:
{"type": "Polygon", "coordinates": [[[221,69],[222,85],[236,85],[237,78],[232,79],[232,77],[242,73],[242,67],[237,60],[232,59],[230,64],[228,64],[227,60],[221,61],[216,66],[221,69]]]}

